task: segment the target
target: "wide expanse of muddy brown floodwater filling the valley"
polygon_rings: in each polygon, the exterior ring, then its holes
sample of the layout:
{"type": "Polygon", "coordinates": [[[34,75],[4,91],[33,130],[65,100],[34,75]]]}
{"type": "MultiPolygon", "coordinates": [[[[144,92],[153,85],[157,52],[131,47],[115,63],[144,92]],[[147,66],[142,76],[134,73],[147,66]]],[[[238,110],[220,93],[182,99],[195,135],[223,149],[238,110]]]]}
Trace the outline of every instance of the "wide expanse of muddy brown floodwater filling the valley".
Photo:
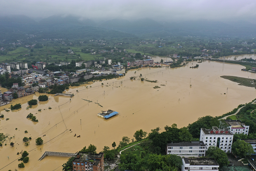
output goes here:
{"type": "Polygon", "coordinates": [[[28,151],[29,162],[25,163],[25,168],[18,170],[62,170],[61,165],[68,157],[46,156],[38,161],[39,157],[45,151],[75,153],[90,144],[97,146],[97,152],[100,152],[104,146],[112,149],[113,142],[118,145],[123,136],[133,138],[138,129],[150,132],[160,127],[163,130],[165,125],[173,123],[180,128],[193,123],[198,117],[230,112],[239,104],[256,98],[255,88],[240,86],[220,77],[256,77],[254,73],[241,71],[242,68],[244,66],[238,64],[210,61],[190,62],[178,68],[140,68],[130,70],[117,79],[70,87],[67,92],[74,94],[71,100],[47,94],[48,101],[26,109],[27,101],[37,99],[39,93],[15,99],[12,104],[21,103],[22,109],[5,112],[3,109],[10,107],[10,104],[0,108],[4,115],[0,119],[0,132],[13,137],[6,146],[3,144],[0,147],[0,170],[18,169],[21,162],[17,159],[21,155],[17,152],[21,150],[28,151]],[[196,64],[199,64],[198,68],[189,68],[196,64]],[[138,80],[140,74],[145,79],[157,80],[157,83],[138,80]],[[137,78],[130,80],[132,76],[137,78]],[[154,89],[155,86],[161,88],[154,89]],[[97,116],[108,109],[119,112],[119,115],[110,119],[97,116]],[[39,122],[27,119],[29,113],[34,114],[39,122]],[[24,133],[25,130],[28,133],[24,133]],[[30,145],[24,146],[22,139],[30,136],[30,145]],[[38,137],[44,140],[42,146],[35,145],[38,137]],[[10,142],[15,143],[14,147],[10,146],[10,142]]]}

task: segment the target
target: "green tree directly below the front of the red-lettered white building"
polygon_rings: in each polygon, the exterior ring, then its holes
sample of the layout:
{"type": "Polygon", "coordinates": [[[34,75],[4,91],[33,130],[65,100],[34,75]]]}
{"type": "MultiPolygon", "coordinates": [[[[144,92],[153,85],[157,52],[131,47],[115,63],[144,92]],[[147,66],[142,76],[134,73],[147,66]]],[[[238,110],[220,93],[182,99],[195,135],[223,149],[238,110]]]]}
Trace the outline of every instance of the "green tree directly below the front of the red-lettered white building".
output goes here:
{"type": "Polygon", "coordinates": [[[219,163],[220,167],[226,166],[229,164],[227,154],[218,147],[210,146],[208,148],[208,150],[206,151],[206,154],[209,157],[215,158],[217,160],[217,162],[219,163]]]}

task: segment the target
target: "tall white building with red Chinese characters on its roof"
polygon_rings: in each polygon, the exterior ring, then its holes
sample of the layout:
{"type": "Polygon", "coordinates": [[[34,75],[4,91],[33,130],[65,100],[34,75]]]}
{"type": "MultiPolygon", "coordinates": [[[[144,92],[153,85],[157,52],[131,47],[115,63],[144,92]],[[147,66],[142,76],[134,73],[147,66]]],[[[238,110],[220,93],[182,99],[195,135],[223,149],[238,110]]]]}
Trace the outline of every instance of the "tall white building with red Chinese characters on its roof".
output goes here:
{"type": "Polygon", "coordinates": [[[215,146],[227,153],[231,152],[233,134],[229,129],[219,129],[218,127],[212,127],[212,129],[201,128],[200,141],[204,142],[206,150],[210,146],[215,146]]]}

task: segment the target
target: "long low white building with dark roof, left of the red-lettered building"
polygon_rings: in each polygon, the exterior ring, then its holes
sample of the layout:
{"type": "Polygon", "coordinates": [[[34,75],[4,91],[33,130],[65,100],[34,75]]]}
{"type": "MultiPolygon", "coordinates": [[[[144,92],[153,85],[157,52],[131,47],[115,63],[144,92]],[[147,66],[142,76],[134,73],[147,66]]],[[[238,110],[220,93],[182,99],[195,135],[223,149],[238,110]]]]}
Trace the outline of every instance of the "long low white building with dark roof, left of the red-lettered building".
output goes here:
{"type": "Polygon", "coordinates": [[[166,154],[175,154],[181,157],[205,156],[206,146],[202,141],[184,141],[167,143],[166,154]]]}

